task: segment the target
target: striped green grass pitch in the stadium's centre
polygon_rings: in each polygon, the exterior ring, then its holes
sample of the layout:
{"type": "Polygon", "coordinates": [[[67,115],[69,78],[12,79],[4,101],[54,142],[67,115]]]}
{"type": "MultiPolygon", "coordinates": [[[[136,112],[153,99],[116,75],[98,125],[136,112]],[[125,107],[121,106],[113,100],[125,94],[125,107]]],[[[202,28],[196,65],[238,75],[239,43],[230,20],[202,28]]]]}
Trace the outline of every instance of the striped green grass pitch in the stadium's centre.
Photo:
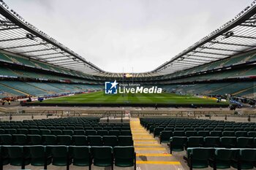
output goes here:
{"type": "MultiPolygon", "coordinates": [[[[83,93],[42,101],[45,104],[217,104],[211,98],[195,96],[179,96],[173,93],[161,94],[121,94],[105,95],[103,91],[83,93]]],[[[218,104],[228,104],[221,102],[218,104]]]]}

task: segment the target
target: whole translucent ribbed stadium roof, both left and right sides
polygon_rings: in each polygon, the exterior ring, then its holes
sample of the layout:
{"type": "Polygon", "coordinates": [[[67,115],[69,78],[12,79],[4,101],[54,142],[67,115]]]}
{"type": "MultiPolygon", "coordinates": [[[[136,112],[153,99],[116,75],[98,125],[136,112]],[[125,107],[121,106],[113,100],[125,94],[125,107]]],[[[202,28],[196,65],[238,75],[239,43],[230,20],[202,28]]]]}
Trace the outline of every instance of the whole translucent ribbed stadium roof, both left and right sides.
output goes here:
{"type": "MultiPolygon", "coordinates": [[[[152,77],[200,66],[256,47],[256,0],[233,20],[213,31],[152,72],[132,74],[152,77]]],[[[104,77],[123,77],[105,72],[28,23],[0,0],[0,50],[34,58],[67,69],[104,77]]]]}

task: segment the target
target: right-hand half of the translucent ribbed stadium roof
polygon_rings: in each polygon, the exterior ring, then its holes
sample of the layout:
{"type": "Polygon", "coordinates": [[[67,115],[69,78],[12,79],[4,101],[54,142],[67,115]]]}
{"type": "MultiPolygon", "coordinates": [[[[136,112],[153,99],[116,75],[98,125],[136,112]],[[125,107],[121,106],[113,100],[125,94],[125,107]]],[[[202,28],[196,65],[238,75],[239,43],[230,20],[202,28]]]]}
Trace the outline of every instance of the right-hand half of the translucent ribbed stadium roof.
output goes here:
{"type": "Polygon", "coordinates": [[[153,72],[171,74],[256,47],[256,1],[208,36],[182,51],[153,72]]]}

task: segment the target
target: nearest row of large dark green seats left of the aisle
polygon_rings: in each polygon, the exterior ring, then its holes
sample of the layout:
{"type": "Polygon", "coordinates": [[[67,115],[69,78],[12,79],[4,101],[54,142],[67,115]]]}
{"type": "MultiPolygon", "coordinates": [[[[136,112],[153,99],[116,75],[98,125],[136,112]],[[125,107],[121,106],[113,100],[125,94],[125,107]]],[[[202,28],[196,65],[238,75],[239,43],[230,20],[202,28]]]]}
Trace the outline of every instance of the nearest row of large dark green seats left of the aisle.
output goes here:
{"type": "Polygon", "coordinates": [[[0,169],[4,165],[20,166],[25,169],[27,165],[47,166],[135,166],[136,155],[134,147],[86,147],[86,146],[1,146],[0,169]]]}

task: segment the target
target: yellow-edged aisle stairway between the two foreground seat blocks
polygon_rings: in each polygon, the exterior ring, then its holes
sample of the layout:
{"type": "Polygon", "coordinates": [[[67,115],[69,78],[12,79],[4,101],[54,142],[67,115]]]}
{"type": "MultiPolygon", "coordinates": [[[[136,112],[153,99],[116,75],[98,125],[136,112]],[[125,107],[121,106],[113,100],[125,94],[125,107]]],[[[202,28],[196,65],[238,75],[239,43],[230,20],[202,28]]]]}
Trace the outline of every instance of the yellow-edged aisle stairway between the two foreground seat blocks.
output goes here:
{"type": "Polygon", "coordinates": [[[146,131],[138,118],[130,120],[132,138],[137,153],[137,169],[182,169],[181,163],[176,161],[164,145],[146,131]]]}

